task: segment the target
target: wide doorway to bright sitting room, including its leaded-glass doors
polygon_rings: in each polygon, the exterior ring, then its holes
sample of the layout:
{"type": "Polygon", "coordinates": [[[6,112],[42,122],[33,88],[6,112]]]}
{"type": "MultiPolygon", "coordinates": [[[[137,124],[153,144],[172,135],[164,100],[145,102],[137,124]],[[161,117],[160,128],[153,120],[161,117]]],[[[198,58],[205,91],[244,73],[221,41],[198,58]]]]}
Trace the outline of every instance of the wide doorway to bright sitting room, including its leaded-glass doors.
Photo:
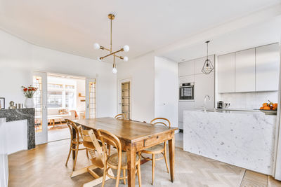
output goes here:
{"type": "Polygon", "coordinates": [[[33,85],[38,88],[34,95],[34,105],[35,133],[41,134],[39,144],[69,139],[70,130],[65,119],[96,117],[95,78],[46,74],[44,79],[34,75],[33,85]],[[46,115],[43,115],[44,109],[46,115]]]}

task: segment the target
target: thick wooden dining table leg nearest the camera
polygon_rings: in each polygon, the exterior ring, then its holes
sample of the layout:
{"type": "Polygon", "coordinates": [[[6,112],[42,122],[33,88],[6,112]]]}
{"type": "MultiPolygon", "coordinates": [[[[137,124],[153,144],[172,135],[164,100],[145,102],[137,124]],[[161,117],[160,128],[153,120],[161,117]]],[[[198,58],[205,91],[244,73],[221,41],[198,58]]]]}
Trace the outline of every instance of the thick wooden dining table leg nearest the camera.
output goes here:
{"type": "Polygon", "coordinates": [[[128,187],[135,186],[136,182],[136,147],[133,144],[126,145],[128,187]]]}

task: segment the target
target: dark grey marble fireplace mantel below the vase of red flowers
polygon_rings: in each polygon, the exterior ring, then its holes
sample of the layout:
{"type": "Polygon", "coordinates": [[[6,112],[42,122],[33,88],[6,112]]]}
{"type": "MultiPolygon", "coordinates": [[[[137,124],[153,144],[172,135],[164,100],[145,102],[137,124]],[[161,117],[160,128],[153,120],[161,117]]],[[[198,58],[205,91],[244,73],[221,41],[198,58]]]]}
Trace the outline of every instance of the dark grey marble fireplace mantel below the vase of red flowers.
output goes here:
{"type": "Polygon", "coordinates": [[[6,118],[6,122],[15,120],[27,120],[27,148],[35,148],[34,118],[35,109],[4,109],[0,110],[0,118],[6,118]]]}

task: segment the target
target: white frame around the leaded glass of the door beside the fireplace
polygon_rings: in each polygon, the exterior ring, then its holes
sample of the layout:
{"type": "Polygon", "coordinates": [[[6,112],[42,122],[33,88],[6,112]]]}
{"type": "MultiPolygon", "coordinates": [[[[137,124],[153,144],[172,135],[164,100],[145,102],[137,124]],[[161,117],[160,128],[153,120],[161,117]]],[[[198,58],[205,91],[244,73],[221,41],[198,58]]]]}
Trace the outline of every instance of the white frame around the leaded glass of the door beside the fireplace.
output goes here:
{"type": "Polygon", "coordinates": [[[45,144],[48,142],[48,107],[47,107],[47,93],[48,93],[48,73],[44,71],[32,72],[32,85],[33,76],[42,77],[42,90],[41,90],[41,109],[42,109],[42,132],[35,132],[35,144],[45,144]]]}

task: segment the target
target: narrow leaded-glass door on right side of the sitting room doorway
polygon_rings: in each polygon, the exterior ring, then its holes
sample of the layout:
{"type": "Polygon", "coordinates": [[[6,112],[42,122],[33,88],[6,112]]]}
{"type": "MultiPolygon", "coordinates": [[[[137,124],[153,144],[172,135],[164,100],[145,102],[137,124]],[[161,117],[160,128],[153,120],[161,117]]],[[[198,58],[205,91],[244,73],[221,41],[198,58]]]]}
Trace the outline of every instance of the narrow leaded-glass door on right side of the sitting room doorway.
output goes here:
{"type": "Polygon", "coordinates": [[[96,118],[96,78],[86,78],[86,118],[96,118]]]}

